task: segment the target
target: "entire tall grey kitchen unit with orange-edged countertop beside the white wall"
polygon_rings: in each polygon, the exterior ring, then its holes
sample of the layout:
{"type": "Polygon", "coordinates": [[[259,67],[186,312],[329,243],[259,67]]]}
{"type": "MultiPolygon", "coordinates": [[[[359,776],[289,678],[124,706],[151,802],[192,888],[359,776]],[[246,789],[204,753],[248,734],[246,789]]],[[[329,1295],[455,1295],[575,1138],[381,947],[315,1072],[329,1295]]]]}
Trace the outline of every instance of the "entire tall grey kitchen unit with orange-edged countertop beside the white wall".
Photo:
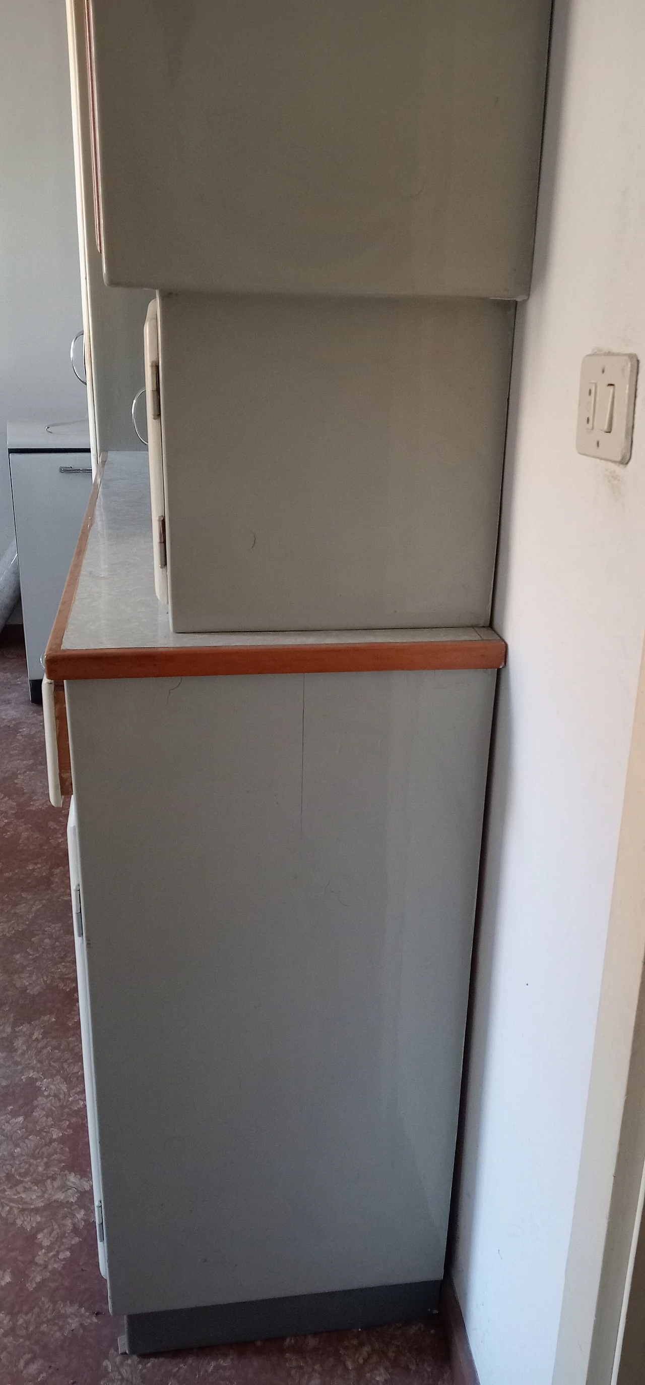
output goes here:
{"type": "Polygon", "coordinates": [[[84,240],[155,292],[149,490],[100,461],[46,658],[109,1305],[143,1352],[422,1316],[549,4],[68,19],[84,240]]]}

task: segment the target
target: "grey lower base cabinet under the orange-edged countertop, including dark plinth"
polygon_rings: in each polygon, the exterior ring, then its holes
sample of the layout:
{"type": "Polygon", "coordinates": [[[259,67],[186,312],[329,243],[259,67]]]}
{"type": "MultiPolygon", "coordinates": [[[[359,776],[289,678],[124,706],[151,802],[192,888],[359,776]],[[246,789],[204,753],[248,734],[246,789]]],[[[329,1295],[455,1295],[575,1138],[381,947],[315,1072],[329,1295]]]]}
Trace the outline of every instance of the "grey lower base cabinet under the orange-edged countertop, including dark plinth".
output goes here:
{"type": "Polygon", "coordinates": [[[66,683],[100,1251],[131,1350],[436,1306],[494,686],[66,683]]]}

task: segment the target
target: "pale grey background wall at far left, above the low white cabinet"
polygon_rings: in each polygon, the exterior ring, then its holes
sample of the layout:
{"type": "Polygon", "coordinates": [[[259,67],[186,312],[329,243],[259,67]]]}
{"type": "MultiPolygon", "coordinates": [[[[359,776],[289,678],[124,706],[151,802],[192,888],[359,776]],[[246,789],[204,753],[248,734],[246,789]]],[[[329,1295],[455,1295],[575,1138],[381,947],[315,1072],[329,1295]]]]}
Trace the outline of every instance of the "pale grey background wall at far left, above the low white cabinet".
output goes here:
{"type": "Polygon", "coordinates": [[[0,0],[0,551],[12,537],[7,418],[82,418],[65,0],[0,0]]]}

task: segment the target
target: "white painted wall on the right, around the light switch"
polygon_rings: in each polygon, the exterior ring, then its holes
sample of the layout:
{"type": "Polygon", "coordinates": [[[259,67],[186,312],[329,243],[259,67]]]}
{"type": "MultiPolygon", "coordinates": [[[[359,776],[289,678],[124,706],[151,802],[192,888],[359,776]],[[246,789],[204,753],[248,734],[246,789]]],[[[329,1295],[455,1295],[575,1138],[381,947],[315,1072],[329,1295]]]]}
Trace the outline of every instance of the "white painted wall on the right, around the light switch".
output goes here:
{"type": "Polygon", "coordinates": [[[642,0],[555,0],[454,1260],[482,1385],[552,1377],[645,627],[644,51],[642,0]],[[641,357],[626,470],[574,450],[594,348],[641,357]]]}

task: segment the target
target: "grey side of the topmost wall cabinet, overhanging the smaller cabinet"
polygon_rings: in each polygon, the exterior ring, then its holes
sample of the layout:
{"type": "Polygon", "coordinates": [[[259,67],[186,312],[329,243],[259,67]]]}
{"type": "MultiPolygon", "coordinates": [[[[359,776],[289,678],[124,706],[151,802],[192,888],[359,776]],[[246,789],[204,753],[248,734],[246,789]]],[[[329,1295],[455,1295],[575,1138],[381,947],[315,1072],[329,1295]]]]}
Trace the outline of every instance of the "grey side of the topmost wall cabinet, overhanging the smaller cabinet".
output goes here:
{"type": "Polygon", "coordinates": [[[105,281],[529,292],[551,0],[89,0],[105,281]]]}

